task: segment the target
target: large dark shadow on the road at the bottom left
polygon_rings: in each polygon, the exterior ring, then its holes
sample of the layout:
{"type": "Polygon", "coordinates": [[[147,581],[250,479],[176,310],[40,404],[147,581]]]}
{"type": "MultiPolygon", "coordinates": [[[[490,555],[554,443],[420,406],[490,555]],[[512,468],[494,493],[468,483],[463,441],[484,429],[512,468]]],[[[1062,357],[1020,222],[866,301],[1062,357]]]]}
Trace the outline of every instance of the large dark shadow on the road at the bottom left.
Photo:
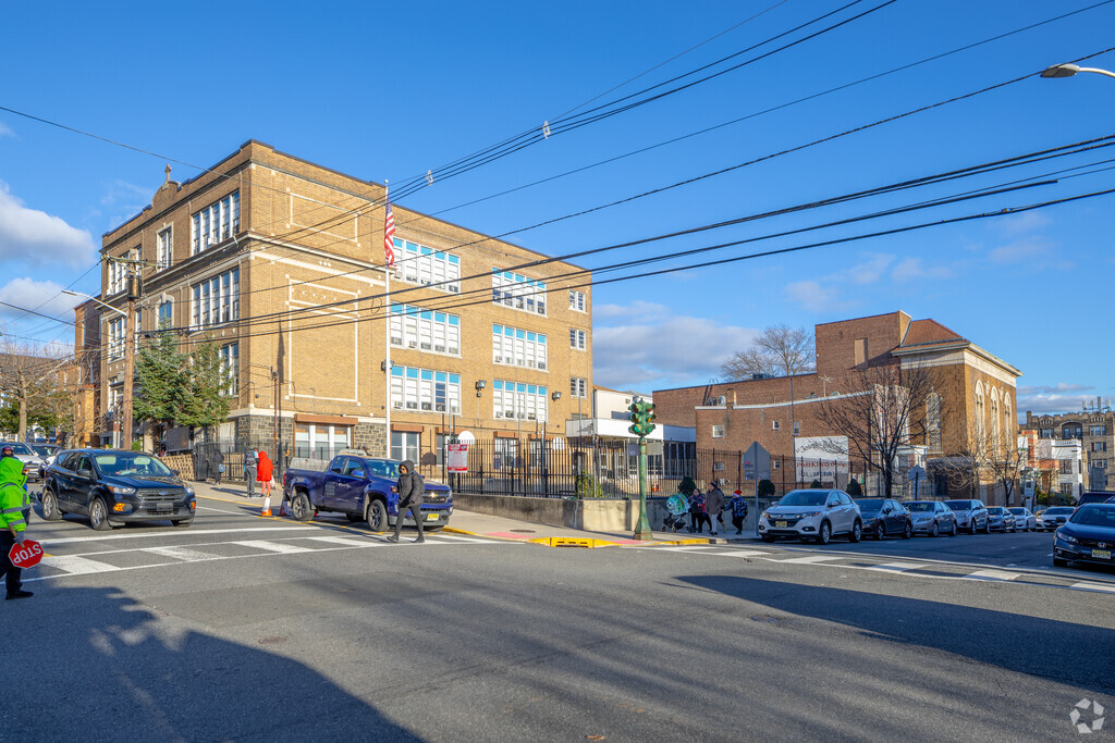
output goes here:
{"type": "Polygon", "coordinates": [[[115,588],[55,588],[56,599],[61,592],[65,616],[54,614],[50,590],[4,607],[13,609],[6,618],[36,638],[7,654],[9,733],[59,741],[418,740],[318,672],[264,649],[284,638],[242,645],[169,623],[115,588]]]}

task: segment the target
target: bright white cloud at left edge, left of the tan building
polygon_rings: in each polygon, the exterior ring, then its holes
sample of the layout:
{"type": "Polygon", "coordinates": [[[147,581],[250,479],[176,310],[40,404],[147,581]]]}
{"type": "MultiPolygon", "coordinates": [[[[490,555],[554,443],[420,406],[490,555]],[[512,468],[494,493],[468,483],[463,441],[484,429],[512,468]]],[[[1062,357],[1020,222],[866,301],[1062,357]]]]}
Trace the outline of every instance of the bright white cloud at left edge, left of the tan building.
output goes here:
{"type": "Polygon", "coordinates": [[[46,212],[30,209],[0,182],[0,260],[85,267],[96,260],[93,235],[46,212]]]}

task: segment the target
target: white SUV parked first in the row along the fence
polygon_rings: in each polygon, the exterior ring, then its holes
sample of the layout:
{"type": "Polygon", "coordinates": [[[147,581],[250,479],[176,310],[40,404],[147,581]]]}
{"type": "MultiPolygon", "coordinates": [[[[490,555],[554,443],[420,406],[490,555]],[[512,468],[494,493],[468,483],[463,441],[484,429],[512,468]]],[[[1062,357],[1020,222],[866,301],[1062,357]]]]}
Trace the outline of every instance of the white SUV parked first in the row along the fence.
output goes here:
{"type": "Polygon", "coordinates": [[[763,541],[796,537],[827,545],[836,535],[847,535],[849,541],[863,536],[860,507],[843,490],[791,490],[759,516],[763,541]]]}

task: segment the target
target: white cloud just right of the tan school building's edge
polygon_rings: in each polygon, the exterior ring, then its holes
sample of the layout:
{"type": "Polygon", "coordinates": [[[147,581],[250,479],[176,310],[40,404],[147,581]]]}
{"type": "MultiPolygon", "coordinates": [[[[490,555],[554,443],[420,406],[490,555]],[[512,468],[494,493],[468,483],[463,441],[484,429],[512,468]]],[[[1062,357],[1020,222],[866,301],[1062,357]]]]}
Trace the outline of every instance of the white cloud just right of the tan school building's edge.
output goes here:
{"type": "Polygon", "coordinates": [[[720,364],[749,345],[756,335],[758,331],[750,327],[688,316],[597,327],[592,336],[594,381],[603,387],[632,389],[719,377],[720,364]]]}

